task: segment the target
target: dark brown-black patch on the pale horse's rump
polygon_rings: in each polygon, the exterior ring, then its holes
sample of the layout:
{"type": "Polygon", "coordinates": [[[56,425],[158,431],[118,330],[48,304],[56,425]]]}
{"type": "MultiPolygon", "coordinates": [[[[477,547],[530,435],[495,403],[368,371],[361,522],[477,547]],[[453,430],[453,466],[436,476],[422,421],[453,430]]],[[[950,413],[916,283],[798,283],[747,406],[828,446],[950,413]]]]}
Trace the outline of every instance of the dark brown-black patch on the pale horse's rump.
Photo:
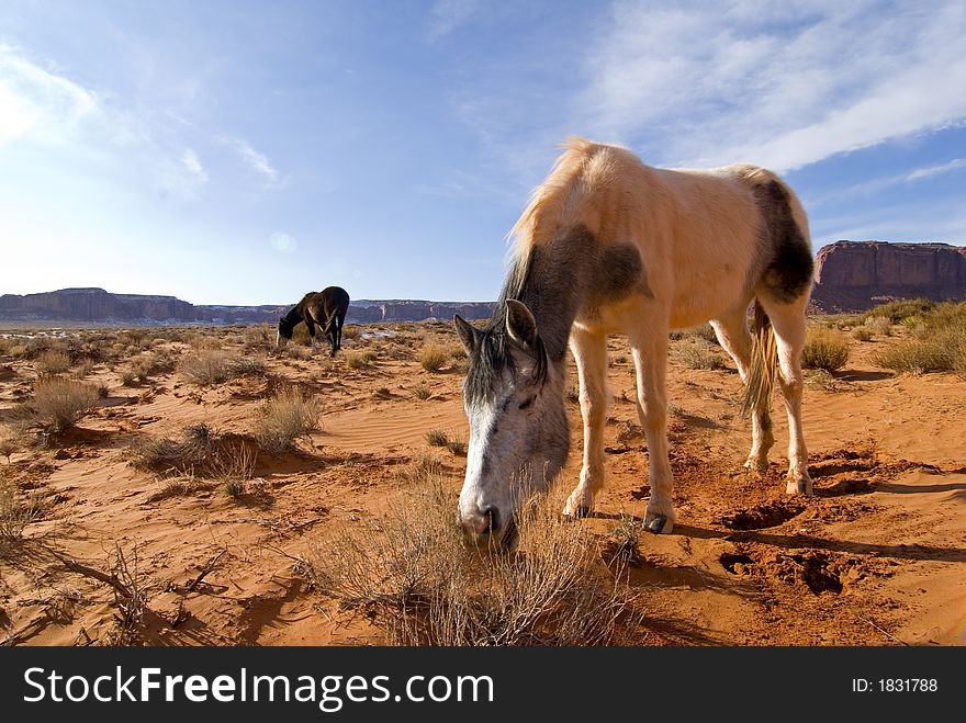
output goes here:
{"type": "Polygon", "coordinates": [[[777,181],[754,188],[762,215],[762,235],[770,249],[762,282],[778,301],[790,304],[811,287],[811,247],[791,214],[788,193],[777,181]]]}

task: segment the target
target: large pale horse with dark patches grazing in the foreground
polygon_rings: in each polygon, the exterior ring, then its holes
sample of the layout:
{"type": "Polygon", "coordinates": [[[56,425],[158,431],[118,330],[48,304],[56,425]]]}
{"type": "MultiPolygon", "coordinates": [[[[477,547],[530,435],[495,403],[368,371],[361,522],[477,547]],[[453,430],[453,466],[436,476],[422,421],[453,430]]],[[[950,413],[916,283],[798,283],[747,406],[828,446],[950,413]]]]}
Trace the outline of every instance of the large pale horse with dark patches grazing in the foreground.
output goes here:
{"type": "Polygon", "coordinates": [[[608,335],[627,335],[648,441],[644,527],[671,532],[667,453],[669,331],[710,320],[745,382],[752,444],[765,470],[777,379],[788,415],[786,493],[811,495],[801,430],[801,351],[812,282],[808,219],[774,173],[645,166],[626,148],[571,138],[513,227],[512,263],[483,329],[459,315],[469,353],[470,425],[459,520],[476,541],[509,544],[526,497],[549,487],[570,441],[565,354],[573,352],[584,423],[580,483],[564,513],[594,508],[604,485],[608,335]],[[753,340],[748,309],[755,301],[753,340]]]}

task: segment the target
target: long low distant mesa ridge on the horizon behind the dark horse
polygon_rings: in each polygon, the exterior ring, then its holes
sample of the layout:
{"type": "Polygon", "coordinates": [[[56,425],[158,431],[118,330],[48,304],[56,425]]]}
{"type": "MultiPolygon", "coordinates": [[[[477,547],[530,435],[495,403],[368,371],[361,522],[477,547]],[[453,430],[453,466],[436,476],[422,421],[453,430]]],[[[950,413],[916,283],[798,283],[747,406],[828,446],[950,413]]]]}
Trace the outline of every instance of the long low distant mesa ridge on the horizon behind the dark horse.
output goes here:
{"type": "MultiPolygon", "coordinates": [[[[263,306],[194,305],[175,296],[112,294],[103,289],[61,289],[38,294],[3,294],[0,319],[92,324],[276,324],[293,304],[263,306]]],[[[425,321],[487,318],[492,302],[368,301],[352,302],[346,321],[425,321]]]]}

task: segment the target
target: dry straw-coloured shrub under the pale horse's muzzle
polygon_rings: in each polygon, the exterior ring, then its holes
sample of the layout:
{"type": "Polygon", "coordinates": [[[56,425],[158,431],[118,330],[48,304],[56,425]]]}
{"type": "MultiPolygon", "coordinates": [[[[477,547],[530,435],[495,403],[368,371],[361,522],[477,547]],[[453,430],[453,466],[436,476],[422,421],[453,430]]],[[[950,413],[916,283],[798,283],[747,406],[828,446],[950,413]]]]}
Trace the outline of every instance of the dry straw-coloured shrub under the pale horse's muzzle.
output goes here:
{"type": "Polygon", "coordinates": [[[329,528],[302,572],[390,644],[625,644],[642,619],[636,599],[555,507],[530,506],[513,551],[481,554],[453,524],[456,490],[434,476],[381,519],[329,528]]]}

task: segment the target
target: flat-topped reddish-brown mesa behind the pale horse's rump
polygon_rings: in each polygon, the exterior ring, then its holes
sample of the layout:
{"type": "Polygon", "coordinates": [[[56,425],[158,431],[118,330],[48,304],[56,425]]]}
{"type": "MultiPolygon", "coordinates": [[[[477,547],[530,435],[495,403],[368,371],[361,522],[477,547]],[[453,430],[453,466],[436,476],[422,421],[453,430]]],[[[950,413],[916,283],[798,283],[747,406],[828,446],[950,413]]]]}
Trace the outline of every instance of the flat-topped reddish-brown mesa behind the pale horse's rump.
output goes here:
{"type": "Polygon", "coordinates": [[[836,241],[818,252],[811,302],[819,310],[864,312],[919,297],[966,300],[966,247],[836,241]]]}

